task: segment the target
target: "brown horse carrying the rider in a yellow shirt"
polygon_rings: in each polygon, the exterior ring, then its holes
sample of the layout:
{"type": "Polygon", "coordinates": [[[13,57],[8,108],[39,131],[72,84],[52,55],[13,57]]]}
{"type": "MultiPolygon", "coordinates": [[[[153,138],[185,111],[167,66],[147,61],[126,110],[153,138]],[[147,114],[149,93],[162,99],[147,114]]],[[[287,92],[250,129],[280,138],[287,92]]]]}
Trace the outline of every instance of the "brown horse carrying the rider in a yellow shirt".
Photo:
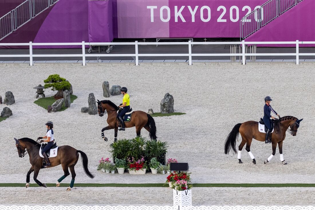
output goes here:
{"type": "MultiPolygon", "coordinates": [[[[117,141],[117,132],[118,132],[118,120],[117,120],[117,110],[118,107],[109,100],[99,101],[97,100],[97,110],[100,117],[103,117],[104,114],[108,114],[107,116],[107,124],[105,128],[102,129],[102,138],[104,141],[108,139],[104,136],[105,130],[114,129],[115,136],[114,142],[117,141]]],[[[137,136],[140,136],[140,131],[142,128],[145,128],[150,133],[150,138],[156,140],[156,126],[155,121],[151,117],[150,114],[147,114],[142,111],[134,111],[132,113],[131,120],[129,122],[125,122],[126,128],[136,127],[137,136]]]]}

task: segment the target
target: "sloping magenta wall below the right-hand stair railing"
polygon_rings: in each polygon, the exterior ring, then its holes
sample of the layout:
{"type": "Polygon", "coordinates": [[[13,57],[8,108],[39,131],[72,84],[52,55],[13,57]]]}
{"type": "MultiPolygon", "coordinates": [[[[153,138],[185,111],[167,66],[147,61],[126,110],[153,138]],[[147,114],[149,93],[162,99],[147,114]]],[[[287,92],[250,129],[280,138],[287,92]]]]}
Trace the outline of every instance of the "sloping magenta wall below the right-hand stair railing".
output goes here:
{"type": "MultiPolygon", "coordinates": [[[[280,15],[261,30],[249,36],[246,41],[315,41],[314,0],[301,3],[280,15]]],[[[295,47],[295,45],[257,45],[259,47],[295,47]]],[[[314,47],[315,45],[301,45],[314,47]]]]}

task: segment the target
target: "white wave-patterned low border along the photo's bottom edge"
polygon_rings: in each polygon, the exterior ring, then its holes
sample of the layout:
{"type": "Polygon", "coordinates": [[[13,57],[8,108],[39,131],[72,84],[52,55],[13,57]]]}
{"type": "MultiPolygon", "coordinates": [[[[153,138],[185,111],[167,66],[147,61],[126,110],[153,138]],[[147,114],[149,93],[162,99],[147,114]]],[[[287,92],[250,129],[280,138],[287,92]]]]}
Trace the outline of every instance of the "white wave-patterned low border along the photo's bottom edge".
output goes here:
{"type": "MultiPolygon", "coordinates": [[[[0,210],[178,210],[173,206],[3,206],[0,210]]],[[[315,210],[314,206],[187,206],[180,210],[315,210]]]]}

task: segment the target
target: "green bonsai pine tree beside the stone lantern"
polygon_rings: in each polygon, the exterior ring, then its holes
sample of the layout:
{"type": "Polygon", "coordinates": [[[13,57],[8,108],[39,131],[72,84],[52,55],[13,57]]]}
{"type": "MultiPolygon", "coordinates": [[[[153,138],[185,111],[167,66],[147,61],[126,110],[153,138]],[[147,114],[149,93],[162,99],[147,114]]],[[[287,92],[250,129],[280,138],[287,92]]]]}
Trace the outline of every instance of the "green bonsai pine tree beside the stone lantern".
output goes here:
{"type": "Polygon", "coordinates": [[[71,86],[70,82],[57,74],[49,75],[44,82],[46,83],[45,88],[52,87],[52,91],[58,91],[55,96],[63,96],[63,91],[68,90],[71,86]]]}

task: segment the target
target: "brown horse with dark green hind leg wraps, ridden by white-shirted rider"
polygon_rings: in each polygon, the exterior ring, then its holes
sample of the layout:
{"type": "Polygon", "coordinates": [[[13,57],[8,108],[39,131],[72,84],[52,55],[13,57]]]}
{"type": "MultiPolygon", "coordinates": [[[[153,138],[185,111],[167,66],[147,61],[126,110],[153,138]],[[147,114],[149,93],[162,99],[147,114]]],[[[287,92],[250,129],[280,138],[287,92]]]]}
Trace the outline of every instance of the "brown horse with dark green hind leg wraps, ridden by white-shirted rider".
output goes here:
{"type": "MultiPolygon", "coordinates": [[[[29,139],[29,138],[21,138],[15,140],[15,146],[18,149],[19,157],[23,158],[25,156],[25,149],[27,150],[28,155],[30,156],[30,163],[31,163],[31,169],[27,172],[26,175],[26,188],[30,186],[30,174],[34,171],[34,181],[39,185],[46,187],[46,184],[41,183],[37,180],[37,175],[40,169],[43,169],[43,159],[39,156],[39,149],[40,144],[36,141],[29,139]]],[[[27,154],[26,153],[26,154],[27,154]]],[[[51,166],[47,167],[54,167],[61,164],[62,170],[64,171],[64,175],[60,177],[60,179],[56,183],[56,187],[60,186],[60,182],[66,178],[66,176],[70,175],[68,168],[70,168],[70,172],[72,175],[72,180],[70,183],[70,186],[67,188],[67,191],[70,191],[74,184],[74,179],[76,177],[76,173],[74,171],[74,166],[77,164],[77,161],[79,159],[79,153],[81,154],[82,163],[83,163],[83,169],[86,175],[88,175],[90,178],[94,178],[94,175],[92,175],[89,172],[88,169],[88,157],[86,154],[80,150],[76,150],[75,148],[71,146],[59,146],[57,156],[53,158],[49,158],[49,161],[51,163],[51,166]]]]}

